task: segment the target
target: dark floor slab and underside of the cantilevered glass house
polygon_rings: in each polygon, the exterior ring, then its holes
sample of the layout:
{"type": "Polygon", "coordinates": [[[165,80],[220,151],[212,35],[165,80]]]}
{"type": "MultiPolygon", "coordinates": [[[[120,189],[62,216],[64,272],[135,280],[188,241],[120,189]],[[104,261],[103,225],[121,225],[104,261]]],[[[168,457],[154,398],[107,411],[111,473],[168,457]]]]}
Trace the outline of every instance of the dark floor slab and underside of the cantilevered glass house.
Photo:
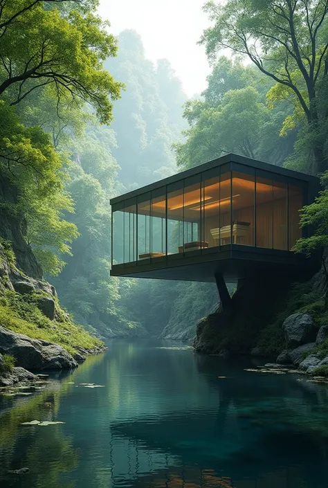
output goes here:
{"type": "Polygon", "coordinates": [[[320,267],[320,257],[311,258],[289,251],[228,244],[221,248],[190,251],[152,260],[116,264],[112,276],[215,282],[215,273],[226,282],[236,282],[257,273],[280,273],[289,279],[306,279],[320,267]]]}

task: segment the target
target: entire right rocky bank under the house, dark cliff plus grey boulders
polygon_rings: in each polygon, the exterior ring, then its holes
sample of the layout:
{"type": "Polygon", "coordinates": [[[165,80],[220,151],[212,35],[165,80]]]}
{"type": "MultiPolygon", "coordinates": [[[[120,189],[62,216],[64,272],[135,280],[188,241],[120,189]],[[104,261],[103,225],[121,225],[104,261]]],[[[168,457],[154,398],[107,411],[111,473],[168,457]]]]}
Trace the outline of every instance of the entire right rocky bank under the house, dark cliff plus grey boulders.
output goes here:
{"type": "Polygon", "coordinates": [[[293,283],[281,274],[241,280],[231,311],[220,306],[198,323],[195,350],[278,356],[279,363],[307,372],[322,370],[328,365],[327,256],[325,251],[320,271],[307,282],[293,283]]]}

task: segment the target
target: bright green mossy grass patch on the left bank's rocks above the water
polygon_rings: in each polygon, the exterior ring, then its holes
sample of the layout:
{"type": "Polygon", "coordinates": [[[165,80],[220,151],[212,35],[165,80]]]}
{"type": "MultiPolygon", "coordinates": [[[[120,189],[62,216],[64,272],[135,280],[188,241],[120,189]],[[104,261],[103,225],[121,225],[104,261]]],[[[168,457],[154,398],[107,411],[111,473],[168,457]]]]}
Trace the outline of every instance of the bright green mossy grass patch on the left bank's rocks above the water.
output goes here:
{"type": "Polygon", "coordinates": [[[48,319],[37,307],[39,297],[40,295],[36,293],[31,296],[21,296],[14,291],[7,291],[5,296],[0,297],[1,325],[31,338],[60,344],[71,354],[75,352],[76,346],[91,349],[102,344],[82,327],[75,325],[58,305],[59,320],[48,319]]]}

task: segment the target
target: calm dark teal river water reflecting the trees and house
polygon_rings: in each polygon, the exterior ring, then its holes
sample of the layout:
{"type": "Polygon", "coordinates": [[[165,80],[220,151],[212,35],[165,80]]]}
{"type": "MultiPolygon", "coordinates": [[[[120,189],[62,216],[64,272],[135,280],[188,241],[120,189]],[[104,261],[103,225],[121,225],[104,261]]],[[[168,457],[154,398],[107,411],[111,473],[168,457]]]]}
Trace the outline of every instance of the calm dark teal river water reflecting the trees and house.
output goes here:
{"type": "Polygon", "coordinates": [[[328,386],[172,346],[114,341],[1,397],[0,487],[328,487],[328,386]],[[65,424],[21,425],[35,419],[65,424]]]}

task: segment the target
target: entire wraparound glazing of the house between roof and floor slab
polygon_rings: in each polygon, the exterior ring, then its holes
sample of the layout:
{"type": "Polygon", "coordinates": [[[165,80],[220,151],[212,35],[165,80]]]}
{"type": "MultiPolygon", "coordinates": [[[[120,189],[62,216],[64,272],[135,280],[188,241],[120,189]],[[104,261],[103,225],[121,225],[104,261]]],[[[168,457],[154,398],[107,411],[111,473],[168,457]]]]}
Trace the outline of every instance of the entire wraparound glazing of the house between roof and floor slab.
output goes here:
{"type": "Polygon", "coordinates": [[[221,166],[116,204],[113,264],[163,260],[230,243],[291,250],[302,236],[305,187],[279,175],[275,180],[271,172],[243,170],[221,166]]]}

